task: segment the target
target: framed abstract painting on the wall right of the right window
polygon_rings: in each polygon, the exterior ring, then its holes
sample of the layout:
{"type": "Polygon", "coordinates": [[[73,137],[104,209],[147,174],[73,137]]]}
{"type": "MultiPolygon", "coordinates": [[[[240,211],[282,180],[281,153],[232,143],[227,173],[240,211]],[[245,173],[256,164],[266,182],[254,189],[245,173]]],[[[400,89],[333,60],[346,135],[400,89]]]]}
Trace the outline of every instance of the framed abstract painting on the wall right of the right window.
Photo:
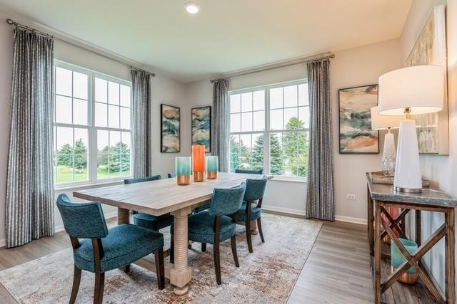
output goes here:
{"type": "Polygon", "coordinates": [[[340,153],[379,153],[379,131],[371,130],[370,109],[378,105],[378,85],[338,90],[340,153]]]}

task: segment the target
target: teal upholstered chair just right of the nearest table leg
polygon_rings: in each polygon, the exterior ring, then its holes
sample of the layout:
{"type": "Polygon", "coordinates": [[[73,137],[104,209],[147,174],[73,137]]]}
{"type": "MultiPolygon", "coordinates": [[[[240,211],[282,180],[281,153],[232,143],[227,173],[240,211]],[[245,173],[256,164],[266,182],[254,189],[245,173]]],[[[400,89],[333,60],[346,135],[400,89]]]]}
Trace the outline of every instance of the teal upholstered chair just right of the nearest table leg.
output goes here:
{"type": "MultiPolygon", "coordinates": [[[[235,266],[239,267],[236,253],[236,211],[243,201],[246,184],[230,189],[216,188],[213,191],[211,207],[207,210],[192,214],[188,219],[188,237],[190,241],[213,244],[214,270],[216,282],[221,285],[221,258],[219,243],[230,239],[231,253],[235,266]]],[[[174,227],[171,226],[171,238],[174,237],[174,227]]],[[[174,248],[171,248],[174,250],[174,248]]]]}

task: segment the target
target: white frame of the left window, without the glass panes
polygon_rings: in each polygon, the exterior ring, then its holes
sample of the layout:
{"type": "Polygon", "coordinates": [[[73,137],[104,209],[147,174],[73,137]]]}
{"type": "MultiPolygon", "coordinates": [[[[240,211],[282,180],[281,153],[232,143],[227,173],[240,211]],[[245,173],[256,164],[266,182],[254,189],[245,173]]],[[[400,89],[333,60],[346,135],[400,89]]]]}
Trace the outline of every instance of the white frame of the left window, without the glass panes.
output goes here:
{"type": "MultiPolygon", "coordinates": [[[[130,129],[121,129],[121,126],[119,125],[119,128],[114,128],[114,127],[96,127],[95,125],[95,78],[100,78],[106,81],[111,81],[114,83],[119,83],[120,85],[126,85],[130,88],[130,101],[132,103],[133,101],[133,92],[132,92],[132,83],[131,81],[124,80],[121,78],[116,78],[111,75],[106,75],[104,73],[97,72],[95,70],[91,70],[89,68],[82,68],[79,65],[74,65],[71,63],[67,63],[65,61],[60,61],[57,59],[54,59],[54,68],[65,68],[67,70],[72,70],[77,73],[84,73],[88,75],[88,93],[87,93],[87,103],[88,103],[88,109],[87,109],[87,119],[88,119],[88,124],[87,125],[74,125],[74,124],[68,124],[68,123],[62,123],[62,122],[56,122],[56,77],[54,77],[54,89],[53,89],[53,105],[54,105],[54,113],[53,113],[53,132],[54,130],[57,130],[57,127],[71,127],[71,128],[85,128],[87,130],[87,142],[88,142],[88,159],[87,159],[87,173],[88,173],[88,179],[84,182],[66,182],[66,183],[61,183],[57,184],[56,180],[56,170],[54,170],[53,167],[53,177],[54,177],[54,189],[55,190],[61,190],[61,189],[66,189],[66,188],[72,188],[72,187],[85,187],[85,186],[91,186],[91,185],[97,185],[97,184],[108,184],[111,182],[119,182],[124,179],[132,177],[130,174],[129,176],[125,177],[114,177],[114,178],[109,178],[109,179],[97,179],[97,157],[98,157],[98,146],[97,146],[97,131],[98,130],[106,130],[106,131],[119,131],[119,132],[129,132],[130,133],[130,149],[131,149],[131,142],[132,142],[132,130],[131,130],[131,124],[132,124],[132,112],[130,111],[130,129]]],[[[73,86],[73,83],[71,83],[73,86]]],[[[108,103],[107,103],[108,105],[108,103]]],[[[125,107],[124,107],[125,108],[125,107]]],[[[130,107],[131,110],[131,107],[130,107]]],[[[73,107],[71,108],[71,115],[73,117],[73,107]]],[[[53,135],[54,137],[54,135],[53,135]]],[[[54,155],[54,150],[56,150],[56,147],[54,147],[54,142],[53,142],[53,157],[54,155]]],[[[132,164],[132,154],[130,153],[130,168],[132,164]]],[[[130,172],[131,173],[131,172],[130,172]]]]}

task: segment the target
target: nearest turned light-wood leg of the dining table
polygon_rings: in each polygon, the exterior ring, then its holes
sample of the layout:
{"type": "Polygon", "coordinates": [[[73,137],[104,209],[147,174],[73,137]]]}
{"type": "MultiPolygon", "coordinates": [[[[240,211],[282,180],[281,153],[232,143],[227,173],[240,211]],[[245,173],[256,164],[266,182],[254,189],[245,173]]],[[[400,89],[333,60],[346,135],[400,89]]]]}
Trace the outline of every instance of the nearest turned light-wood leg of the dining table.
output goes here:
{"type": "Polygon", "coordinates": [[[192,276],[187,252],[187,215],[190,213],[191,207],[171,212],[174,215],[174,268],[170,271],[170,283],[174,285],[176,295],[187,293],[192,276]]]}

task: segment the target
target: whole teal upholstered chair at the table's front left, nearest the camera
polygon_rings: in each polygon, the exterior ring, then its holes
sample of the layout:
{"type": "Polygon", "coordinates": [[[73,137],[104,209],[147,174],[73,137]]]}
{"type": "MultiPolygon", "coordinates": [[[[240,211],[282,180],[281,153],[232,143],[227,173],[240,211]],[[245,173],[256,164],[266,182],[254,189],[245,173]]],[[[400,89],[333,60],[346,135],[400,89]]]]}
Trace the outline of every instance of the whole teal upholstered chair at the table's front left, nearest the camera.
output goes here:
{"type": "Polygon", "coordinates": [[[154,253],[156,259],[159,289],[164,289],[162,234],[129,224],[108,229],[99,201],[75,204],[66,194],[60,194],[57,198],[57,208],[73,246],[74,278],[70,303],[76,300],[81,271],[95,273],[94,303],[101,303],[106,271],[129,266],[151,253],[154,253]]]}

